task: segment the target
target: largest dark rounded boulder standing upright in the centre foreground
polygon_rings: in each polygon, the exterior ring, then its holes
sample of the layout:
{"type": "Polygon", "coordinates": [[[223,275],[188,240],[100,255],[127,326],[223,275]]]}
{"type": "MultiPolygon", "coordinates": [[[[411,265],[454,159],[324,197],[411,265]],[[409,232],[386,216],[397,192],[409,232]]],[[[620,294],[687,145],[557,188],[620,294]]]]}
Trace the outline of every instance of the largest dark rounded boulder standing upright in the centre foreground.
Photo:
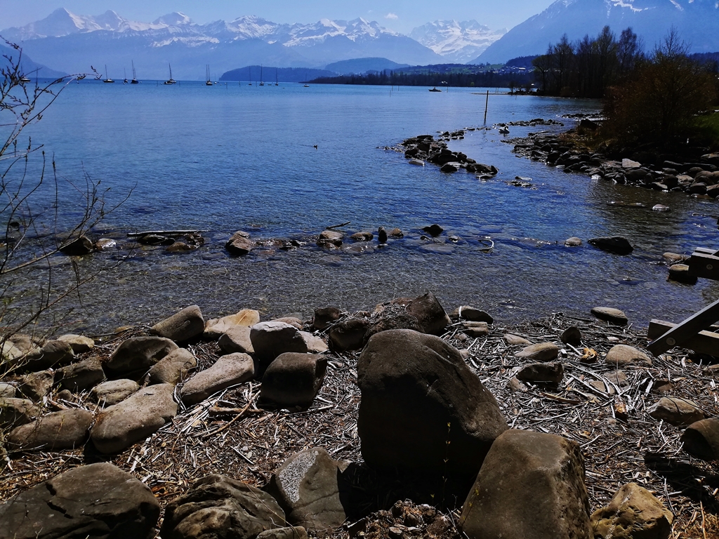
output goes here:
{"type": "Polygon", "coordinates": [[[495,397],[436,336],[375,334],[359,357],[357,381],[357,430],[372,466],[474,475],[507,429],[495,397]]]}

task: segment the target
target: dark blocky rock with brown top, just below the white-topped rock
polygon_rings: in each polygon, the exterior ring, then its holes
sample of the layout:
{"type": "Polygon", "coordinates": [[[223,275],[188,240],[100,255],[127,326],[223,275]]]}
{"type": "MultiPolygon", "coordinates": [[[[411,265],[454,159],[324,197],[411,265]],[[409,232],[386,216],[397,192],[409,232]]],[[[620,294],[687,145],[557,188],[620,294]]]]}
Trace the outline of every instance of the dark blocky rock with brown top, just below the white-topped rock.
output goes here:
{"type": "Polygon", "coordinates": [[[308,406],[324,380],[327,358],[288,352],[277,356],[262,376],[260,398],[286,406],[308,406]]]}

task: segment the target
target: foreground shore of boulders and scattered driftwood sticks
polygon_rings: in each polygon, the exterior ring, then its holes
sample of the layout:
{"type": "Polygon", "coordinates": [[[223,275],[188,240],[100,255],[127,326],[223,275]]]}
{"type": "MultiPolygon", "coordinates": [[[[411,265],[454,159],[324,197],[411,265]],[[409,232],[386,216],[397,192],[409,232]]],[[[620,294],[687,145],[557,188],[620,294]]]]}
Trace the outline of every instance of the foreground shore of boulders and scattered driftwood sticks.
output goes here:
{"type": "Polygon", "coordinates": [[[13,336],[0,538],[719,533],[714,360],[592,315],[506,328],[428,292],[13,336]]]}

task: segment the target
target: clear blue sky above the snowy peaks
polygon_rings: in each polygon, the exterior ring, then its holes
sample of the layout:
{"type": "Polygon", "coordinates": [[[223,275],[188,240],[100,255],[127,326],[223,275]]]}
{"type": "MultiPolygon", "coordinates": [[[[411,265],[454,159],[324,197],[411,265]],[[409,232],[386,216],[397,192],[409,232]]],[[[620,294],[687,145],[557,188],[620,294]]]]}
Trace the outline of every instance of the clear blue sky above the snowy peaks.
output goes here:
{"type": "Polygon", "coordinates": [[[182,11],[199,23],[242,15],[290,23],[364,17],[408,33],[436,19],[475,19],[492,29],[509,29],[551,3],[552,0],[0,0],[0,29],[43,19],[59,7],[80,15],[112,9],[127,19],[145,22],[182,11]]]}

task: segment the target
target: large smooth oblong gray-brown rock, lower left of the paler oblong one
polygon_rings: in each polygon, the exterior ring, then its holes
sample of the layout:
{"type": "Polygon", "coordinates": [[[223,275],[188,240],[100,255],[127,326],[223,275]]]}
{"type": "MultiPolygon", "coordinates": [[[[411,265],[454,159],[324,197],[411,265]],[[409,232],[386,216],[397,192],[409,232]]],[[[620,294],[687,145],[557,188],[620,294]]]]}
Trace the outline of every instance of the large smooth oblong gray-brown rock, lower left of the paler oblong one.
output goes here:
{"type": "Polygon", "coordinates": [[[98,415],[90,438],[101,453],[120,453],[155,433],[177,414],[175,386],[157,384],[139,390],[98,415]]]}

